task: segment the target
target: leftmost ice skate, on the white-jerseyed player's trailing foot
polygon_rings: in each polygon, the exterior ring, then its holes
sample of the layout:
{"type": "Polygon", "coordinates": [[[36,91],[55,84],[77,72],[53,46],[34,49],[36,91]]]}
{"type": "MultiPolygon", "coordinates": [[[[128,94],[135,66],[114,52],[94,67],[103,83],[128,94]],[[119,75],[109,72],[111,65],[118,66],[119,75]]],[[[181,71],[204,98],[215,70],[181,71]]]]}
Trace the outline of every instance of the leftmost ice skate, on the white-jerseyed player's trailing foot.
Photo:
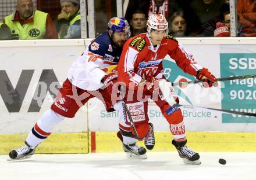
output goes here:
{"type": "Polygon", "coordinates": [[[8,160],[11,161],[11,160],[28,159],[32,155],[34,155],[34,153],[35,153],[35,149],[32,149],[31,146],[27,144],[27,142],[25,141],[25,144],[22,147],[13,149],[12,151],[10,151],[9,153],[10,159],[8,160]]]}

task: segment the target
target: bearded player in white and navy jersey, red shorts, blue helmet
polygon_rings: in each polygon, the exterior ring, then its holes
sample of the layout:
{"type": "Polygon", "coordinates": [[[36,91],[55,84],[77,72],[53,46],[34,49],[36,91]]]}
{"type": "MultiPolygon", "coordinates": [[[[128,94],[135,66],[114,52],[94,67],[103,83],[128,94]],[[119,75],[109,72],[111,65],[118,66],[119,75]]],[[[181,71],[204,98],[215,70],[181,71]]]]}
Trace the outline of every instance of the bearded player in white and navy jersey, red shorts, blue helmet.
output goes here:
{"type": "Polygon", "coordinates": [[[122,47],[130,36],[130,25],[123,18],[109,20],[108,31],[102,33],[87,46],[69,69],[51,109],[42,115],[30,131],[25,144],[9,153],[10,160],[26,159],[65,117],[74,117],[90,98],[97,97],[112,111],[109,82],[117,80],[113,67],[119,62],[122,47]],[[108,86],[106,86],[108,85],[108,86]]]}

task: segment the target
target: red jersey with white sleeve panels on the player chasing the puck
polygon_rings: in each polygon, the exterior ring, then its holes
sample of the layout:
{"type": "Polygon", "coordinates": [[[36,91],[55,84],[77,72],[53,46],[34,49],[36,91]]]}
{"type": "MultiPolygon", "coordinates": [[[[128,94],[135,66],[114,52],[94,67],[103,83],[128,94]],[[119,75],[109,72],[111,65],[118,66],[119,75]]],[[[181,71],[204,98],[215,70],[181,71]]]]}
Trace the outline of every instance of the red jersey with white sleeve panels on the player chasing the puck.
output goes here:
{"type": "Polygon", "coordinates": [[[190,53],[170,35],[164,37],[160,45],[153,46],[148,34],[139,34],[126,41],[118,65],[118,81],[138,83],[141,79],[163,78],[162,60],[169,55],[178,67],[195,76],[201,69],[190,53]]]}

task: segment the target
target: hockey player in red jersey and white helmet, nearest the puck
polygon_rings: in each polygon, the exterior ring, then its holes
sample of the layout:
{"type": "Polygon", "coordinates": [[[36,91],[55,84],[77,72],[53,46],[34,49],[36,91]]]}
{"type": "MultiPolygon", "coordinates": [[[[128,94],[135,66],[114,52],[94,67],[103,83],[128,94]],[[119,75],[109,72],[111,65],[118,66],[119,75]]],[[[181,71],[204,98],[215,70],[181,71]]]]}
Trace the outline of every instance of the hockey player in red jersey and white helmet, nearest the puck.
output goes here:
{"type": "MultiPolygon", "coordinates": [[[[205,79],[209,86],[216,82],[215,76],[207,68],[201,68],[191,54],[172,36],[168,35],[168,22],[162,14],[151,14],[147,20],[147,33],[139,34],[126,41],[118,66],[118,82],[123,82],[126,87],[123,101],[130,111],[131,118],[136,126],[137,136],[130,121],[126,118],[119,119],[119,129],[123,138],[123,149],[137,149],[137,155],[144,156],[146,150],[136,144],[137,139],[146,139],[145,145],[154,145],[152,124],[148,123],[148,98],[153,98],[158,91],[155,104],[159,106],[170,126],[173,135],[172,144],[176,147],[184,163],[201,164],[200,156],[193,149],[187,148],[186,130],[183,122],[182,111],[169,105],[158,88],[158,80],[164,79],[162,60],[169,56],[176,61],[178,67],[187,74],[205,79]],[[133,93],[131,93],[133,92],[133,93]],[[143,97],[139,98],[138,97],[143,97]]],[[[118,103],[122,109],[122,104],[118,103]]],[[[119,134],[120,136],[120,134],[119,134]]]]}

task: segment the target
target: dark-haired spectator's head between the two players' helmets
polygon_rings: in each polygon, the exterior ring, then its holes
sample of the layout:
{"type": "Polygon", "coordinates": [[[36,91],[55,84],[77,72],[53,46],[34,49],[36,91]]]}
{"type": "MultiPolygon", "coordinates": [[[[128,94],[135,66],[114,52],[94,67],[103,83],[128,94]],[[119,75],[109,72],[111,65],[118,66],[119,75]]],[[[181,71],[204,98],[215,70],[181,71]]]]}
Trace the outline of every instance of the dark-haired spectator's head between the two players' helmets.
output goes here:
{"type": "Polygon", "coordinates": [[[147,17],[143,10],[135,10],[133,17],[130,20],[131,36],[136,36],[143,32],[147,32],[146,29],[147,17]]]}

